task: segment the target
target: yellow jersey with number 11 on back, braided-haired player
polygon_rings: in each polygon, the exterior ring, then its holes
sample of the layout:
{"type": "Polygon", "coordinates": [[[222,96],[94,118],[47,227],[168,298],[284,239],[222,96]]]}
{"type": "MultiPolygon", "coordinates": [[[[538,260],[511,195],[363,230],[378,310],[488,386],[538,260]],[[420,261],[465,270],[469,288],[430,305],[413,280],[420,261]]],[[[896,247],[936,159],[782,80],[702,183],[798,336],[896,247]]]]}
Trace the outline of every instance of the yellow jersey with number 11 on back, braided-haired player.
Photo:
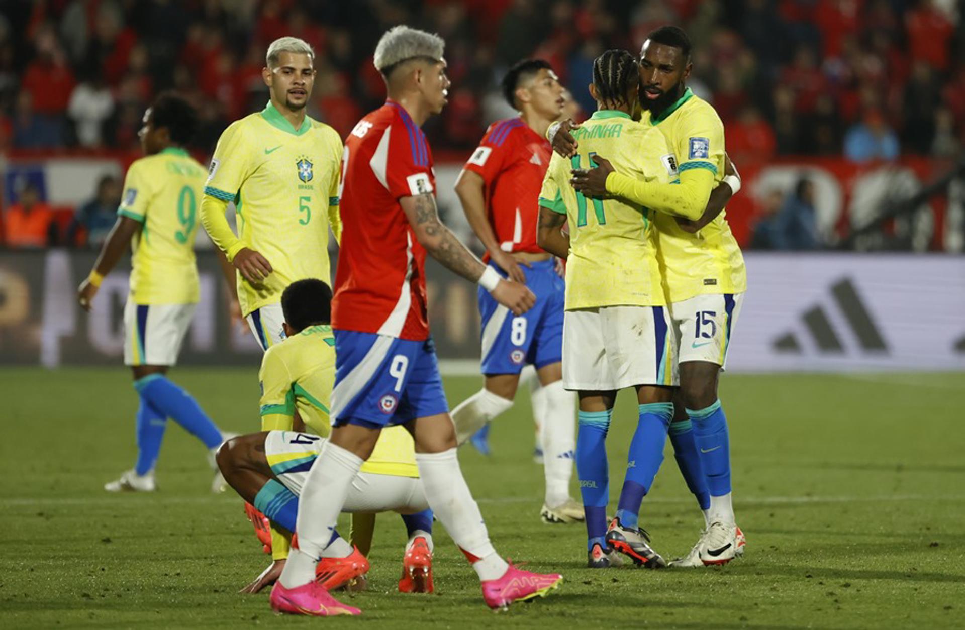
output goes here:
{"type": "Polygon", "coordinates": [[[592,168],[593,155],[629,177],[667,183],[671,159],[663,135],[616,110],[600,110],[573,130],[579,154],[554,153],[539,205],[566,214],[566,310],[604,306],[662,306],[653,212],[620,199],[588,199],[569,184],[570,170],[592,168]]]}

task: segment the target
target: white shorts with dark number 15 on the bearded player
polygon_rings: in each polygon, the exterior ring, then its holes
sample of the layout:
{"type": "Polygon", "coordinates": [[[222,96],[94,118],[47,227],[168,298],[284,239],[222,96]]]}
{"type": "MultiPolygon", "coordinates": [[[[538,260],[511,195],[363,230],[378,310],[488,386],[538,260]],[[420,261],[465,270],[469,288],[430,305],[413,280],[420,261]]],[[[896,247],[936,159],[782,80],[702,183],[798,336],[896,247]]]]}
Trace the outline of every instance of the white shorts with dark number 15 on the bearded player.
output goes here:
{"type": "Polygon", "coordinates": [[[743,293],[707,293],[670,306],[679,362],[705,361],[723,369],[743,293]]]}

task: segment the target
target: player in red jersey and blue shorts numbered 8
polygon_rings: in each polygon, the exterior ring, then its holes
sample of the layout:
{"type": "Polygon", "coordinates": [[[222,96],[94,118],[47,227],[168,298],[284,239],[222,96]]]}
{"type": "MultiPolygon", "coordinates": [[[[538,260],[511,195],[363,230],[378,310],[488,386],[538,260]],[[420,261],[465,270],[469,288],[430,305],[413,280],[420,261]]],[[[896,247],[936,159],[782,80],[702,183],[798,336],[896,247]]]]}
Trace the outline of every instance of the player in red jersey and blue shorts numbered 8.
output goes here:
{"type": "Polygon", "coordinates": [[[563,111],[563,92],[553,68],[541,59],[510,68],[503,94],[520,115],[489,126],[455,184],[466,218],[486,248],[484,260],[537,296],[535,308],[512,316],[480,288],[484,383],[453,411],[456,441],[510,409],[519,372],[534,366],[544,399],[538,419],[546,479],[540,516],[547,523],[583,520],[583,507],[569,497],[576,400],[562,381],[564,283],[553,255],[537,244],[539,190],[552,155],[546,129],[563,111]]]}

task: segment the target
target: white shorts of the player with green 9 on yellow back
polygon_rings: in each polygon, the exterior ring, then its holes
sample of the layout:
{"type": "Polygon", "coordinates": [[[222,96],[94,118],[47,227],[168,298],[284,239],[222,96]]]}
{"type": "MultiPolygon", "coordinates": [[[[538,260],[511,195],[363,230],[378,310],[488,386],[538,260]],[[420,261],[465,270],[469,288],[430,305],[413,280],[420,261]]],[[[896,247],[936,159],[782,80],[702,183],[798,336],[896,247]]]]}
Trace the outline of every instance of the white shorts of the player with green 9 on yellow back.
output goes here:
{"type": "Polygon", "coordinates": [[[124,305],[124,365],[173,366],[197,304],[124,305]]]}

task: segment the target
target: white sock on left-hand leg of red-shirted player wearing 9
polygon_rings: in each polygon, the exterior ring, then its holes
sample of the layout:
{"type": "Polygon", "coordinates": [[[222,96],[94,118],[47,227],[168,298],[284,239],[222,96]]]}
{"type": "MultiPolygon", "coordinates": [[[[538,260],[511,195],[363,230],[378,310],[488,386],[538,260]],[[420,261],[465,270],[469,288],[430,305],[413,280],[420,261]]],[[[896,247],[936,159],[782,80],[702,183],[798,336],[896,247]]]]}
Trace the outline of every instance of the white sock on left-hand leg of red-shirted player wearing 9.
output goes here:
{"type": "MultiPolygon", "coordinates": [[[[299,554],[290,554],[279,581],[294,589],[315,580],[315,565],[328,546],[332,531],[342,513],[352,479],[362,467],[362,458],[331,442],[326,442],[309,471],[298,502],[299,554]],[[292,561],[295,558],[295,562],[292,561]],[[311,561],[311,562],[310,562],[311,561]]],[[[347,543],[346,543],[347,544],[347,543]]]]}

